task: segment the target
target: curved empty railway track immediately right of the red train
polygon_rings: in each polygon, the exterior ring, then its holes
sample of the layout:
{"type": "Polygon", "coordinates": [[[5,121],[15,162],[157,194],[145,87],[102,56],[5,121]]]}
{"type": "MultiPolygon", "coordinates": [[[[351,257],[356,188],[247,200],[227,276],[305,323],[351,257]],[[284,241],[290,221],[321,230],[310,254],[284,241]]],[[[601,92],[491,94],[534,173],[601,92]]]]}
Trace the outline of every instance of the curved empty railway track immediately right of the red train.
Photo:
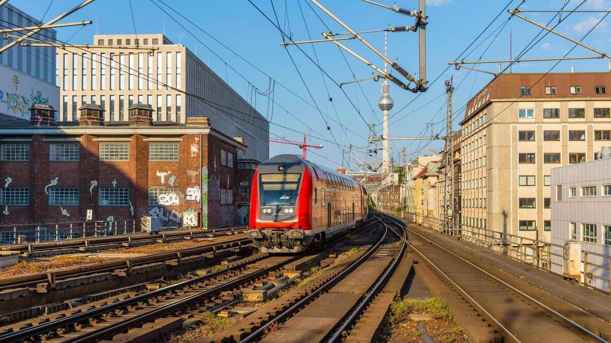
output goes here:
{"type": "MultiPolygon", "coordinates": [[[[271,308],[271,313],[275,313],[273,317],[256,318],[257,314],[253,314],[247,317],[246,322],[255,323],[254,327],[238,325],[213,339],[200,342],[254,342],[279,323],[282,323],[282,329],[268,334],[262,342],[341,341],[393,275],[406,248],[403,229],[392,228],[393,225],[384,223],[381,217],[376,216],[376,222],[382,224],[384,231],[368,248],[354,256],[342,269],[331,272],[331,275],[321,275],[316,279],[321,279],[317,284],[295,290],[302,297],[295,300],[295,295],[287,294],[288,301],[280,298],[278,305],[271,308]],[[351,288],[355,284],[358,286],[351,288]],[[324,304],[331,304],[333,309],[324,304]]],[[[260,310],[266,311],[270,309],[260,310]]]]}

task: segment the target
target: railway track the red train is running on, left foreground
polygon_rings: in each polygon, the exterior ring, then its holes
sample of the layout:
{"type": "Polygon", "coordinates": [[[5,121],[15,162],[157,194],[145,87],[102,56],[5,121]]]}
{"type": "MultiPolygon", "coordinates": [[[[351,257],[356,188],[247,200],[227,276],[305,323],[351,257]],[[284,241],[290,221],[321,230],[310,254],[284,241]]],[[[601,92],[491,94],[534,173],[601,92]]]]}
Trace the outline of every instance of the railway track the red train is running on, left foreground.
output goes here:
{"type": "Polygon", "coordinates": [[[276,262],[264,268],[249,267],[255,262],[270,259],[266,254],[257,254],[233,262],[223,270],[86,311],[76,309],[70,314],[62,313],[53,320],[42,318],[33,323],[29,320],[30,323],[26,323],[25,327],[20,327],[19,323],[9,325],[4,329],[10,332],[0,334],[0,341],[38,340],[41,337],[44,337],[45,341],[53,342],[95,341],[185,306],[196,306],[200,301],[206,300],[203,307],[213,309],[235,300],[219,296],[221,292],[247,284],[296,258],[284,256],[276,258],[276,262]]]}

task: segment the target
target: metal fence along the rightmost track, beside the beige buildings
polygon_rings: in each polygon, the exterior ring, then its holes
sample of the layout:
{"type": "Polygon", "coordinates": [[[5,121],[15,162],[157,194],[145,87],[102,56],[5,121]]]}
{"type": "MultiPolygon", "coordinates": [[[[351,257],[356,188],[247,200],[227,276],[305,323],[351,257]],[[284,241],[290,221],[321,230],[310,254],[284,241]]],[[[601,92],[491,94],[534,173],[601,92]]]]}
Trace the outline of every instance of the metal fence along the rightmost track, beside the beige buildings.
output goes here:
{"type": "MultiPolygon", "coordinates": [[[[458,239],[464,240],[465,242],[495,251],[496,253],[508,256],[517,261],[530,264],[538,269],[545,270],[546,272],[563,276],[552,270],[553,266],[559,267],[559,269],[562,270],[562,263],[554,261],[554,257],[557,261],[563,261],[562,245],[553,244],[545,240],[532,239],[463,224],[458,224],[454,226],[453,229],[448,230],[444,228],[444,222],[438,218],[420,218],[414,213],[398,212],[390,209],[378,209],[378,211],[402,217],[415,223],[420,223],[420,225],[426,228],[448,234],[449,236],[458,237],[458,239]],[[554,250],[560,251],[560,253],[554,250]]],[[[581,276],[580,280],[578,280],[579,283],[582,286],[591,287],[598,291],[611,294],[611,256],[583,249],[581,250],[581,255],[581,276]],[[595,280],[600,282],[593,282],[595,280]]]]}

